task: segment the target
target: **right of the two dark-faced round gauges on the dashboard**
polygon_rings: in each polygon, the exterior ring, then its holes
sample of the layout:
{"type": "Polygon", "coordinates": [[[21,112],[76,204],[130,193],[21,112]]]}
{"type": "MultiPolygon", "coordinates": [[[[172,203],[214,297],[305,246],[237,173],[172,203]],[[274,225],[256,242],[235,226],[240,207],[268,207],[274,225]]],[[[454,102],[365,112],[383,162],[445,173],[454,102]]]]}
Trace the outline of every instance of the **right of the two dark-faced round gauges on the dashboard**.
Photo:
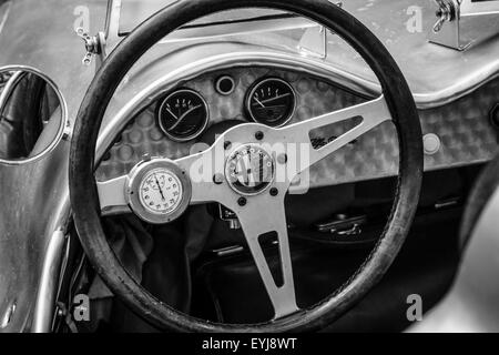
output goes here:
{"type": "Polygon", "coordinates": [[[296,94],[292,85],[278,78],[257,81],[246,95],[249,118],[269,126],[286,124],[295,113],[296,94]]]}

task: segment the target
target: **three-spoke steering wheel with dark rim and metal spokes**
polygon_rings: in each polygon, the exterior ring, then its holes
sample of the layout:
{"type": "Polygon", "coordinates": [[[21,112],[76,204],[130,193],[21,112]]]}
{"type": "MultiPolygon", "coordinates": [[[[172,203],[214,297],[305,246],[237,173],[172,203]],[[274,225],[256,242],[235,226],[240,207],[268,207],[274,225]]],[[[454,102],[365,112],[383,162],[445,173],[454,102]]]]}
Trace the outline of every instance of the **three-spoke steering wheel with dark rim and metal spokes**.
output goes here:
{"type": "Polygon", "coordinates": [[[389,52],[366,27],[329,1],[176,1],[130,33],[96,73],[77,116],[69,173],[74,224],[90,262],[112,292],[144,320],[162,329],[175,331],[313,331],[337,320],[358,302],[383,277],[399,252],[419,200],[421,129],[410,90],[389,52]],[[161,158],[143,161],[126,176],[96,184],[94,152],[102,118],[116,87],[131,67],[157,41],[185,23],[214,12],[248,7],[296,13],[337,33],[371,68],[381,84],[383,94],[375,100],[279,129],[257,123],[241,124],[222,134],[204,152],[175,161],[161,158]],[[352,118],[361,118],[361,122],[322,148],[312,146],[312,130],[352,118]],[[301,310],[295,297],[285,194],[301,171],[389,120],[398,134],[399,174],[391,213],[383,235],[348,282],[320,303],[301,310]],[[306,156],[295,156],[292,150],[277,152],[276,146],[293,144],[307,148],[306,156]],[[253,168],[266,179],[251,186],[241,183],[235,166],[245,159],[256,162],[253,168]],[[299,168],[279,175],[279,169],[295,159],[301,161],[299,168]],[[213,163],[213,160],[221,160],[221,163],[213,163]],[[160,200],[164,204],[150,209],[141,201],[145,199],[144,189],[154,190],[154,186],[155,193],[164,190],[161,193],[167,194],[167,201],[162,196],[160,200]],[[163,304],[126,272],[103,232],[101,212],[108,206],[124,206],[151,223],[167,223],[182,215],[189,205],[208,202],[218,202],[231,209],[241,222],[247,246],[274,306],[275,316],[267,323],[212,323],[163,304]],[[281,282],[274,280],[258,242],[262,235],[269,233],[278,240],[281,282]]]}

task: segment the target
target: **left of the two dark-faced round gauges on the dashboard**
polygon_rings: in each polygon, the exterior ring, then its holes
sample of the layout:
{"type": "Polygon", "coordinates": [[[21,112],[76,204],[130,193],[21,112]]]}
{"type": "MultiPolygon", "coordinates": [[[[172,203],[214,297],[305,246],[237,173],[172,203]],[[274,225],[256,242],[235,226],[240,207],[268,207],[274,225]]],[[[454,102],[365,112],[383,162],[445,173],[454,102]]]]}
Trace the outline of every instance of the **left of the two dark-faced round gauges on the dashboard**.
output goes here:
{"type": "Polygon", "coordinates": [[[164,134],[174,141],[190,141],[203,133],[210,119],[206,101],[190,89],[169,94],[160,105],[157,120],[164,134]]]}

